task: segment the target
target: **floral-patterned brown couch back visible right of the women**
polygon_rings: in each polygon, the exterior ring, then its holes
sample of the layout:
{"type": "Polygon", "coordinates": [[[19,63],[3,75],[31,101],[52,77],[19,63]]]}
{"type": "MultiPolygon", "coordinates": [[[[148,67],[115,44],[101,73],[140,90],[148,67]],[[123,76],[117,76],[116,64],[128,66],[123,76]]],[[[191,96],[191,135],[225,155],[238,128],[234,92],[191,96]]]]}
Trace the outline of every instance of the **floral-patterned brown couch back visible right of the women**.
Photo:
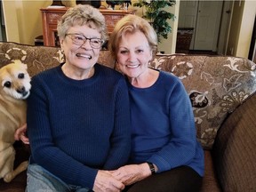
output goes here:
{"type": "Polygon", "coordinates": [[[193,105],[197,138],[211,149],[220,124],[256,91],[256,65],[237,57],[160,55],[152,68],[179,76],[193,105]]]}

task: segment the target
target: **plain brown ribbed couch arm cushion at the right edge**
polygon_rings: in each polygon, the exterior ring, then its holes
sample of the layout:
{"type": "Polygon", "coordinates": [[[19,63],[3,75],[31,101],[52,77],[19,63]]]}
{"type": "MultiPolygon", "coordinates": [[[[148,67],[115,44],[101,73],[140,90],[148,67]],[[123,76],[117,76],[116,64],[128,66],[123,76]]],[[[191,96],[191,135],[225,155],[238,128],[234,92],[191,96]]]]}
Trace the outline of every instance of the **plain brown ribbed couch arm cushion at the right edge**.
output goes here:
{"type": "Polygon", "coordinates": [[[221,126],[213,147],[224,191],[256,191],[256,93],[221,126]]]}

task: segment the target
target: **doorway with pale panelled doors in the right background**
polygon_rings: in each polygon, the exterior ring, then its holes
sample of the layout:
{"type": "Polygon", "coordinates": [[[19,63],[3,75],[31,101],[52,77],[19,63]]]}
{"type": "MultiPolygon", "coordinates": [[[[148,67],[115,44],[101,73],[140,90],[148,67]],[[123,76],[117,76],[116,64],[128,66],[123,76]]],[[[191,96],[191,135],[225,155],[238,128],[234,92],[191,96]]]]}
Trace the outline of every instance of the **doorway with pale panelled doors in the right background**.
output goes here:
{"type": "Polygon", "coordinates": [[[194,28],[189,51],[225,55],[233,1],[180,1],[178,28],[194,28]]]}

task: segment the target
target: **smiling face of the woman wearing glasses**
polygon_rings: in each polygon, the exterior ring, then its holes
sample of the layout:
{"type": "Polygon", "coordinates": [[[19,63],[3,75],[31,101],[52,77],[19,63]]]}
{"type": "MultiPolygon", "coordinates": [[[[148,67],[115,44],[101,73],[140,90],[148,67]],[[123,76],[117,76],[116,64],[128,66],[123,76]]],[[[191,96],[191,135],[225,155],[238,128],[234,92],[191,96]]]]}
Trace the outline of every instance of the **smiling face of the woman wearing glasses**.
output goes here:
{"type": "MultiPolygon", "coordinates": [[[[90,28],[88,25],[73,26],[68,29],[67,34],[79,34],[86,38],[101,38],[97,28],[95,26],[94,28],[90,28]]],[[[73,70],[75,69],[81,72],[91,70],[100,55],[100,48],[92,48],[88,39],[84,44],[77,45],[74,44],[71,36],[64,36],[60,38],[60,45],[64,51],[67,66],[73,68],[73,70]]]]}

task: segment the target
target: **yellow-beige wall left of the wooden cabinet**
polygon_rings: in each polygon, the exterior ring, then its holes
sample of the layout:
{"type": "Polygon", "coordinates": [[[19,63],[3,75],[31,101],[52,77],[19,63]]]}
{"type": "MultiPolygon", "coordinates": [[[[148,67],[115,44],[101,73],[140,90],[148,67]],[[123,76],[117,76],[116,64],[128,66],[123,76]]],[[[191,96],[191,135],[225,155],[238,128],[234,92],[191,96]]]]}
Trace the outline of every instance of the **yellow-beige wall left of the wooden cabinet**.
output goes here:
{"type": "Polygon", "coordinates": [[[43,31],[40,8],[49,4],[52,1],[3,1],[7,41],[34,44],[43,31]]]}

